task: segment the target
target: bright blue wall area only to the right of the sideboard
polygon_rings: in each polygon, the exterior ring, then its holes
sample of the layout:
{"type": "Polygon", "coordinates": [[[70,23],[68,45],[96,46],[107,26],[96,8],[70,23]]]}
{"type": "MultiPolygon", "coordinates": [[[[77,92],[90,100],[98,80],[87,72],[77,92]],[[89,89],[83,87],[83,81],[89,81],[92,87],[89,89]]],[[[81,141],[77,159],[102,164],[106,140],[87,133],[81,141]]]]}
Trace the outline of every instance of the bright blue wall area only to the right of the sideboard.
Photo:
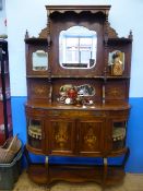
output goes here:
{"type": "Polygon", "coordinates": [[[130,98],[132,106],[128,124],[127,145],[130,147],[130,158],[127,171],[143,172],[143,98],[130,98]]]}

